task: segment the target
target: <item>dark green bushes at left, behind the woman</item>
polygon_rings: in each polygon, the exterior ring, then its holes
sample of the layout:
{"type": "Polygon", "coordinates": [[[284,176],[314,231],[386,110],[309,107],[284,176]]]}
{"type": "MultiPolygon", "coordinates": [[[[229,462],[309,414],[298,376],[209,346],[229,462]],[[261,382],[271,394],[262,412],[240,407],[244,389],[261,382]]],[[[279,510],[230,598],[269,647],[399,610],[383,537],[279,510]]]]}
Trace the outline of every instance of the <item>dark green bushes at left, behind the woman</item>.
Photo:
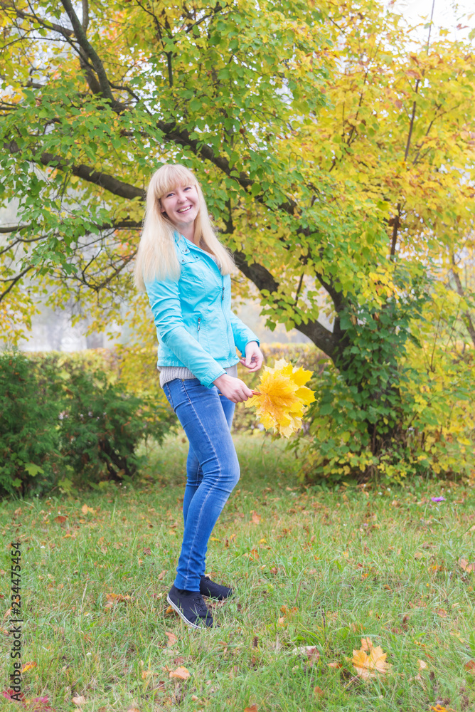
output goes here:
{"type": "Polygon", "coordinates": [[[174,422],[151,397],[124,392],[100,357],[0,356],[0,493],[72,491],[132,477],[149,436],[174,422]]]}

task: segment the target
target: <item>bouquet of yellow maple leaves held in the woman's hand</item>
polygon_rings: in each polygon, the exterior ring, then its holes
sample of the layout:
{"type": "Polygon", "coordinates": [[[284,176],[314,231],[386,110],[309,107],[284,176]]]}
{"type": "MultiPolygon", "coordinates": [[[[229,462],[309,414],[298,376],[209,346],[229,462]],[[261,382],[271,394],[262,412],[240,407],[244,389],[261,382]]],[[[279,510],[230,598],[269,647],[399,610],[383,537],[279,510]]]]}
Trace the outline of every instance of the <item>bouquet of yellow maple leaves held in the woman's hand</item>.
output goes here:
{"type": "Polygon", "coordinates": [[[274,430],[288,438],[301,427],[304,407],[315,400],[314,392],[304,383],[311,371],[294,368],[285,359],[279,359],[274,367],[264,367],[258,391],[245,402],[254,406],[256,415],[266,430],[274,430]]]}

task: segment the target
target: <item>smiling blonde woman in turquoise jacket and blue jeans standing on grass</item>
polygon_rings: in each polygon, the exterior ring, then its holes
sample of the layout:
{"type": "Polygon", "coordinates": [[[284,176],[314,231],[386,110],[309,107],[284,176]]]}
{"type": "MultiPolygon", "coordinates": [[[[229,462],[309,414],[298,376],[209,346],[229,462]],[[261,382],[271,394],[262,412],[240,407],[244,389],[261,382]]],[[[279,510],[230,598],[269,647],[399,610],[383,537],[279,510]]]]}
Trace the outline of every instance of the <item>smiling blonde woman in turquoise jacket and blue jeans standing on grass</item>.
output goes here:
{"type": "Polygon", "coordinates": [[[213,626],[203,595],[223,600],[233,592],[205,576],[206,549],[240,474],[230,426],[235,403],[252,390],[237,378],[237,363],[255,372],[263,359],[257,336],[230,309],[233,267],[196,177],[179,164],[159,168],[147,191],[135,283],[149,295],[160,384],[190,445],[183,544],[167,600],[193,628],[213,626]]]}

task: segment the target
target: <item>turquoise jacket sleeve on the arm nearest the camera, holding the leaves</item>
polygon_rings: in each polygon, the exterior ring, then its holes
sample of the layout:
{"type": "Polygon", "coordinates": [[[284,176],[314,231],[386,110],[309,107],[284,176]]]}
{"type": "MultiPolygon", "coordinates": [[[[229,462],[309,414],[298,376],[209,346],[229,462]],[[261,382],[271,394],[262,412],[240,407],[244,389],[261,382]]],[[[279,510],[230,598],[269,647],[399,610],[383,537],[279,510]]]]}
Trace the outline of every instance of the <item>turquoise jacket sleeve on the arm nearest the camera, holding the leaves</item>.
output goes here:
{"type": "Polygon", "coordinates": [[[185,329],[178,281],[156,280],[146,283],[145,288],[159,341],[174,352],[203,386],[211,388],[213,381],[222,376],[225,370],[185,329]]]}

